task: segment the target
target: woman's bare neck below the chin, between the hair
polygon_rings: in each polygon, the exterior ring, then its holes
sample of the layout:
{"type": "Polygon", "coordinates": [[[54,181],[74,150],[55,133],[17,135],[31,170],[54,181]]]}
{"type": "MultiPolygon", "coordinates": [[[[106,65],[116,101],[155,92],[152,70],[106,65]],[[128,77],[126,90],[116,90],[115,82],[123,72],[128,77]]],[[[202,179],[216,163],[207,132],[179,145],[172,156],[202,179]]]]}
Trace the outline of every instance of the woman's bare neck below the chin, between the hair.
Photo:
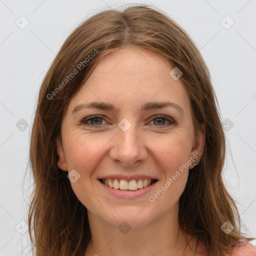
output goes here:
{"type": "Polygon", "coordinates": [[[178,215],[173,214],[173,211],[172,214],[161,215],[143,227],[131,228],[126,233],[89,211],[88,220],[91,239],[85,256],[194,255],[196,238],[181,230],[178,215]]]}

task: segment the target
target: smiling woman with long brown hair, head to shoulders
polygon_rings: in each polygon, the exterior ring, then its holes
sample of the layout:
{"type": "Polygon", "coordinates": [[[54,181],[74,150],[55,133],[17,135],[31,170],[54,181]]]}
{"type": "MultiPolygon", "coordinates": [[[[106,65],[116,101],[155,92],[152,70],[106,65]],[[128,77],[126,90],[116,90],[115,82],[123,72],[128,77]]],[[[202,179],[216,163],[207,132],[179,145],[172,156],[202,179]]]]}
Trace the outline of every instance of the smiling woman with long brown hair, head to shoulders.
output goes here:
{"type": "Polygon", "coordinates": [[[32,127],[34,255],[256,255],[223,185],[216,102],[199,50],[162,12],[77,27],[32,127]]]}

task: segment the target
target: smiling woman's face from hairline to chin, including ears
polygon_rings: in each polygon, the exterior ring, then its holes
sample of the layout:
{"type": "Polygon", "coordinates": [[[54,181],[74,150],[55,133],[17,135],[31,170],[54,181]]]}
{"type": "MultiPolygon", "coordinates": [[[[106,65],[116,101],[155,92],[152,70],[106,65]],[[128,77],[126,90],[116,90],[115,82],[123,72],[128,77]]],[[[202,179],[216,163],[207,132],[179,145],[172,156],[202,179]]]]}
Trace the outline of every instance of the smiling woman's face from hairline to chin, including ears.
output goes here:
{"type": "Polygon", "coordinates": [[[172,69],[140,47],[119,48],[70,100],[58,166],[89,218],[137,228],[177,216],[204,134],[194,135],[189,97],[172,69]]]}

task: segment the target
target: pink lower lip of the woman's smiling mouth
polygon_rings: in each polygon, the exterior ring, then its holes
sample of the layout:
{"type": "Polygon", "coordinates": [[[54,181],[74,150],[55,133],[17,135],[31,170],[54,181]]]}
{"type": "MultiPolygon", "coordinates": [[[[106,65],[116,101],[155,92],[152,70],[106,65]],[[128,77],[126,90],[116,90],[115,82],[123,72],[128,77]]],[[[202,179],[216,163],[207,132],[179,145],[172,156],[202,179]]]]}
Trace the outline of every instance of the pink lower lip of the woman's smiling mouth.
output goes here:
{"type": "Polygon", "coordinates": [[[101,186],[103,187],[104,191],[106,191],[107,193],[109,193],[110,195],[119,197],[119,198],[125,198],[125,199],[133,199],[133,198],[137,198],[140,197],[146,193],[148,193],[149,191],[151,191],[151,189],[155,186],[155,184],[158,181],[154,181],[150,186],[147,187],[143,187],[137,190],[121,190],[121,189],[114,189],[111,188],[107,185],[104,185],[102,182],[100,182],[98,180],[98,182],[101,184],[101,186]]]}

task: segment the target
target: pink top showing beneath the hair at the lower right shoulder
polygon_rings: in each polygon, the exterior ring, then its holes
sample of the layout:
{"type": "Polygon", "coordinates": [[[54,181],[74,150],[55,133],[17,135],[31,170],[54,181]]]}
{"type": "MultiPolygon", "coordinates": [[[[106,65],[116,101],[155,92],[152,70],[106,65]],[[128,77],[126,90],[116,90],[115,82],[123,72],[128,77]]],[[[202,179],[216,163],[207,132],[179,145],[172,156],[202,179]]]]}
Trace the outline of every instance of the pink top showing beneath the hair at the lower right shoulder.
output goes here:
{"type": "MultiPolygon", "coordinates": [[[[207,255],[205,245],[201,240],[198,241],[195,255],[207,255]]],[[[256,247],[251,245],[247,240],[244,240],[235,246],[232,256],[256,256],[256,247]]]]}

